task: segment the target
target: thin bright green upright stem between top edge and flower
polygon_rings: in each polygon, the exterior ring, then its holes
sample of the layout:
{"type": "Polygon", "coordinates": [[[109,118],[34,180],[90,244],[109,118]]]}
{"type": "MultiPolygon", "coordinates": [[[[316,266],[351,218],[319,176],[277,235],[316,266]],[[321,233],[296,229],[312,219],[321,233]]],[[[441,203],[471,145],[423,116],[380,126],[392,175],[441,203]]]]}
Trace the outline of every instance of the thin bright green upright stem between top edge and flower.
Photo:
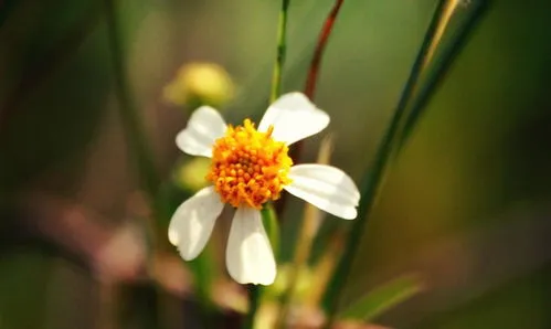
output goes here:
{"type": "Polygon", "coordinates": [[[282,0],[282,10],[279,11],[279,23],[277,26],[277,57],[272,74],[272,92],[269,93],[269,103],[282,94],[282,72],[287,51],[287,13],[290,0],[282,0]]]}

